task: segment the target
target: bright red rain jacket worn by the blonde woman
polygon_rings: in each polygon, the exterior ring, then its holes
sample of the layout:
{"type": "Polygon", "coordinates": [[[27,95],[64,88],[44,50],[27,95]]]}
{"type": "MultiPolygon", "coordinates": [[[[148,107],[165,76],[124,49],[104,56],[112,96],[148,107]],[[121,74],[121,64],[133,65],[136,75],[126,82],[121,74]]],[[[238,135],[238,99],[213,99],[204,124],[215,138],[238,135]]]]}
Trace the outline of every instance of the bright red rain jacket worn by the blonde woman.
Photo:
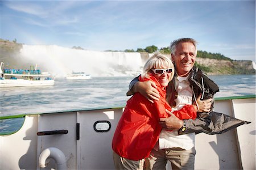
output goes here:
{"type": "MultiPolygon", "coordinates": [[[[162,126],[159,118],[169,117],[166,109],[171,111],[166,101],[166,91],[163,90],[154,76],[147,79],[139,77],[140,81],[151,80],[158,87],[160,99],[151,103],[139,93],[128,101],[115,130],[112,148],[119,156],[130,160],[141,160],[150,155],[158,141],[162,126]]],[[[196,110],[192,105],[185,105],[174,114],[180,119],[196,118],[196,110]]]]}

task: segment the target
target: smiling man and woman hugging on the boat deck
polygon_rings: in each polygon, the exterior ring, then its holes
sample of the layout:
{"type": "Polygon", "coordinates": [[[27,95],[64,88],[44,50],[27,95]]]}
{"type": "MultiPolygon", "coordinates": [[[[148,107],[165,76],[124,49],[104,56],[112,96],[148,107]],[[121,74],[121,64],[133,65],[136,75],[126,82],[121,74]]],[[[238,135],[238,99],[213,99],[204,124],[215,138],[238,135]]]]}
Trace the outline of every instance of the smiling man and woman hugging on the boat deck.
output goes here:
{"type": "Polygon", "coordinates": [[[172,61],[154,54],[130,83],[127,95],[133,96],[112,142],[116,169],[166,169],[167,161],[172,169],[194,169],[196,133],[220,134],[249,123],[212,111],[218,86],[194,67],[196,44],[173,41],[172,61]]]}

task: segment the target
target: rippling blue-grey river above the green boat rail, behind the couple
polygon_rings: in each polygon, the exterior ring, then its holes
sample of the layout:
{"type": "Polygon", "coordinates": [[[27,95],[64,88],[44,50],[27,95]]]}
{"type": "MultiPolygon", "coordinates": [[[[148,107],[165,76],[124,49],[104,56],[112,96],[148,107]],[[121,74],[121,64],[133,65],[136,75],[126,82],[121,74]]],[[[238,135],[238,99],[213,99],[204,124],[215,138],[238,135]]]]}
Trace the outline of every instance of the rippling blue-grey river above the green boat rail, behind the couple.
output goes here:
{"type": "MultiPolygon", "coordinates": [[[[89,80],[56,79],[48,87],[1,88],[1,116],[123,107],[134,76],[93,77],[89,80]]],[[[220,88],[215,97],[255,95],[255,75],[209,76],[220,88]]]]}

